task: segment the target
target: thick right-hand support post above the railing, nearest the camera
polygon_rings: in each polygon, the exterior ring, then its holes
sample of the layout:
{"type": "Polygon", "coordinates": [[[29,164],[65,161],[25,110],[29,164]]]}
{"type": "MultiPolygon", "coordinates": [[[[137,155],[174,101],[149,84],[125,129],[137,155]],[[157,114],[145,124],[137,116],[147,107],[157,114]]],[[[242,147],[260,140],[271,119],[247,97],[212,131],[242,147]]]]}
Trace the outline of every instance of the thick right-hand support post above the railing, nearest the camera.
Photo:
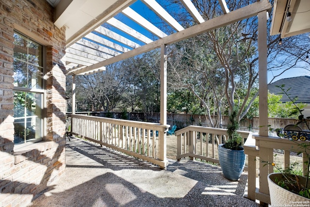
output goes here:
{"type": "Polygon", "coordinates": [[[267,89],[267,11],[258,13],[258,63],[259,63],[259,129],[260,136],[268,136],[267,89]]]}

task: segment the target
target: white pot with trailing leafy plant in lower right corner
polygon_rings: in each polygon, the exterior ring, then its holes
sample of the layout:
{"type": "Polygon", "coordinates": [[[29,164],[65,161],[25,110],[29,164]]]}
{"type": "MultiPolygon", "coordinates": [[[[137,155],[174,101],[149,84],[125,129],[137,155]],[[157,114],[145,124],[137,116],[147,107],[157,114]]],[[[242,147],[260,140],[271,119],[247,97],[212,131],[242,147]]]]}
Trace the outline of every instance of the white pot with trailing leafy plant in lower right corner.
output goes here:
{"type": "MultiPolygon", "coordinates": [[[[277,86],[282,92],[289,97],[289,99],[293,102],[295,106],[295,111],[292,114],[298,113],[298,122],[295,126],[299,124],[305,124],[308,130],[310,127],[307,123],[307,119],[310,117],[304,117],[302,111],[295,103],[294,100],[289,96],[288,90],[284,90],[284,85],[277,86]]],[[[297,175],[293,167],[297,165],[297,162],[294,162],[288,169],[282,170],[275,162],[266,162],[266,164],[270,164],[274,166],[279,173],[271,173],[268,175],[268,187],[270,193],[270,201],[271,205],[310,205],[310,183],[309,183],[309,169],[310,169],[310,142],[304,142],[307,140],[306,136],[302,134],[300,131],[299,134],[295,134],[295,132],[291,132],[290,136],[286,133],[286,131],[282,129],[273,129],[270,126],[270,131],[276,131],[278,136],[281,138],[286,138],[292,140],[292,142],[297,143],[299,148],[301,149],[297,154],[305,153],[308,161],[307,164],[307,173],[306,176],[297,175]],[[298,136],[297,136],[298,135],[298,136]],[[304,136],[304,137],[303,137],[304,136]]],[[[263,161],[265,162],[265,161],[263,161]]]]}

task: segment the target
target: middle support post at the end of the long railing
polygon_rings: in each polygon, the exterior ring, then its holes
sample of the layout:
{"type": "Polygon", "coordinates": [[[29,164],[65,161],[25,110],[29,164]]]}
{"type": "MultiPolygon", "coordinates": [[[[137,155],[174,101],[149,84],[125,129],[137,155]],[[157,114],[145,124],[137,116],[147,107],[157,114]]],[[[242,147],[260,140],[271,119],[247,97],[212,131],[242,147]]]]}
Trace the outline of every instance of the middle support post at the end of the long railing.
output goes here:
{"type": "MultiPolygon", "coordinates": [[[[160,47],[160,124],[167,125],[167,46],[165,44],[160,47]]],[[[158,158],[167,161],[167,134],[165,132],[159,133],[158,149],[158,158]]]]}

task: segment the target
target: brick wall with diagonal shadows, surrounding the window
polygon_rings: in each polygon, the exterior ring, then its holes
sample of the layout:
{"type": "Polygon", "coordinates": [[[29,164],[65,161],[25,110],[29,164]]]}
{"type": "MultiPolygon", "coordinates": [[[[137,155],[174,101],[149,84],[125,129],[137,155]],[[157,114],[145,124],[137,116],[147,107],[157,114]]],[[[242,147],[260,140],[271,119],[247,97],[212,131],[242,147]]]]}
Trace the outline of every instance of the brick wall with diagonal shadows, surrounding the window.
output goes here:
{"type": "Polygon", "coordinates": [[[27,206],[65,168],[65,29],[46,0],[0,1],[0,206],[27,206]],[[14,30],[47,46],[46,136],[14,149],[14,30]]]}

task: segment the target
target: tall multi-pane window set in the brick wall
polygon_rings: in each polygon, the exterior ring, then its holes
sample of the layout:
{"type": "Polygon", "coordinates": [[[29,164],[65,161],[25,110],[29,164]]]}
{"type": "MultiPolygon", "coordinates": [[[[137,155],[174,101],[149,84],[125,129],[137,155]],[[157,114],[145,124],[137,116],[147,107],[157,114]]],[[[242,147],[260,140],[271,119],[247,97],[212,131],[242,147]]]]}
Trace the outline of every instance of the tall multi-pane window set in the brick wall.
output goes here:
{"type": "Polygon", "coordinates": [[[33,143],[43,137],[45,48],[19,32],[14,45],[14,143],[33,143]]]}

